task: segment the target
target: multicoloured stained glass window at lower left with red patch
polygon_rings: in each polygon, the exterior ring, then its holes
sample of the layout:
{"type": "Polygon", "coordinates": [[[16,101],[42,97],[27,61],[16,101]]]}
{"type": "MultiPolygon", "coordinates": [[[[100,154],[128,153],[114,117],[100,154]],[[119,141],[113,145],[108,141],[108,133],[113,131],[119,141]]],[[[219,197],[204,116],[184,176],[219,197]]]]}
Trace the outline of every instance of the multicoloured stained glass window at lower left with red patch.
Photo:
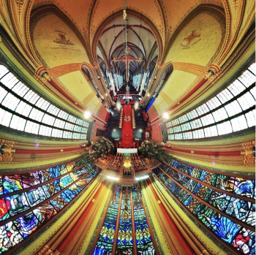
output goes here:
{"type": "Polygon", "coordinates": [[[50,221],[65,205],[72,202],[99,172],[100,169],[93,164],[79,168],[75,162],[70,162],[47,170],[0,176],[0,195],[5,194],[5,197],[1,196],[0,199],[0,235],[3,236],[0,239],[1,253],[50,221]],[[45,183],[48,180],[52,181],[45,183]],[[33,188],[35,185],[36,189],[33,188]],[[15,194],[12,194],[13,192],[15,194]],[[44,202],[45,199],[50,201],[44,202]],[[19,216],[22,212],[26,214],[19,216]],[[14,216],[19,218],[14,219],[14,216]]]}

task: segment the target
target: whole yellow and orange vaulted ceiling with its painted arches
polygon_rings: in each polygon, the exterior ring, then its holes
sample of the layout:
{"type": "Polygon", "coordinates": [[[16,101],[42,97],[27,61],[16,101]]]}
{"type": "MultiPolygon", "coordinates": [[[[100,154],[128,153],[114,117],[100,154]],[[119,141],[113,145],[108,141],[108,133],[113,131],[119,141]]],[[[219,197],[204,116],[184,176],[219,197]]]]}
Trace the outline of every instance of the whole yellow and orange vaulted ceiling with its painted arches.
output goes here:
{"type": "MultiPolygon", "coordinates": [[[[124,55],[123,9],[122,0],[4,0],[0,22],[31,69],[45,66],[75,102],[97,113],[102,102],[111,104],[97,68],[125,70],[112,61],[124,55]]],[[[156,82],[149,80],[145,92],[149,100],[158,91],[159,114],[192,91],[209,66],[225,66],[254,22],[254,9],[255,1],[246,0],[127,1],[130,54],[143,59],[130,69],[150,69],[156,82]]]]}

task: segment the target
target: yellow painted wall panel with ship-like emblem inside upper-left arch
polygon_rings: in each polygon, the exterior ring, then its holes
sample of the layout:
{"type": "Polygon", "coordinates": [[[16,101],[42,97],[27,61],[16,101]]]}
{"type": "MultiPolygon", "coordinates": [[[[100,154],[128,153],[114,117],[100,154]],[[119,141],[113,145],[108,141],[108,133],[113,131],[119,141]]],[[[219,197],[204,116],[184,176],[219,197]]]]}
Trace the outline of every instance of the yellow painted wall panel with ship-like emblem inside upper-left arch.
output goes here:
{"type": "Polygon", "coordinates": [[[32,42],[48,68],[89,62],[86,50],[69,26],[57,15],[42,15],[31,26],[32,42]]]}

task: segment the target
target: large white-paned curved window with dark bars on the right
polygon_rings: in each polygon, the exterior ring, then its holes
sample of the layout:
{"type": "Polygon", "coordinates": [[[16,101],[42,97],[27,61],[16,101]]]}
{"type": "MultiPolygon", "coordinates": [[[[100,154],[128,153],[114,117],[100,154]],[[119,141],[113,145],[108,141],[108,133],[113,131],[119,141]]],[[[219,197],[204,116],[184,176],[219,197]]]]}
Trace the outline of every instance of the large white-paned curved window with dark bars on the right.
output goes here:
{"type": "Polygon", "coordinates": [[[255,126],[255,75],[252,64],[212,99],[165,123],[168,140],[214,137],[255,126]]]}

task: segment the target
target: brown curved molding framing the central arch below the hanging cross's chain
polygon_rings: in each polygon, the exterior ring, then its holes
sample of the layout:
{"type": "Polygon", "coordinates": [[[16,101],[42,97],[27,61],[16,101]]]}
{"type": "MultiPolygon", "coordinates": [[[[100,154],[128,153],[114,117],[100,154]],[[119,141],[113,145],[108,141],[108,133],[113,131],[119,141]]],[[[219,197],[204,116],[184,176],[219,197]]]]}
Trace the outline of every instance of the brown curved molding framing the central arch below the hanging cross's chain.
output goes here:
{"type": "MultiPolygon", "coordinates": [[[[99,38],[101,37],[101,35],[105,29],[105,25],[122,15],[123,15],[123,10],[121,9],[118,12],[115,12],[112,15],[110,15],[108,18],[105,18],[105,20],[103,20],[102,23],[97,28],[97,31],[94,34],[94,37],[92,39],[92,44],[91,44],[92,56],[95,61],[97,61],[97,45],[99,42],[99,38]]],[[[157,46],[159,49],[158,56],[159,56],[159,59],[161,59],[162,53],[163,53],[163,42],[162,42],[162,37],[159,34],[159,31],[158,31],[157,27],[154,25],[154,23],[152,23],[152,21],[149,20],[146,16],[144,16],[141,13],[139,13],[135,10],[132,10],[132,9],[127,9],[127,15],[134,15],[135,17],[140,18],[141,20],[143,20],[143,22],[145,22],[151,28],[152,34],[154,35],[154,37],[157,40],[157,46]]],[[[159,61],[159,59],[158,59],[158,61],[159,61]]]]}

